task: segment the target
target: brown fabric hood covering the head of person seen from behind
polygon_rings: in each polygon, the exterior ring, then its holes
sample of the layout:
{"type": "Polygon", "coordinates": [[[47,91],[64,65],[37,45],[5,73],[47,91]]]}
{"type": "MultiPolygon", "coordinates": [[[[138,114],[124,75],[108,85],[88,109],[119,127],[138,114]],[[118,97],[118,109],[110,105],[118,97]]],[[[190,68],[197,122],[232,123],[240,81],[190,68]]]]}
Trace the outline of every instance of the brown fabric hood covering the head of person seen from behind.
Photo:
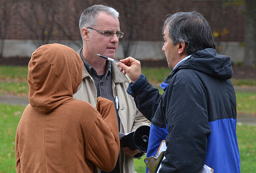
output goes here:
{"type": "Polygon", "coordinates": [[[39,47],[28,63],[29,103],[47,113],[72,99],[82,82],[80,56],[62,44],[39,47]]]}

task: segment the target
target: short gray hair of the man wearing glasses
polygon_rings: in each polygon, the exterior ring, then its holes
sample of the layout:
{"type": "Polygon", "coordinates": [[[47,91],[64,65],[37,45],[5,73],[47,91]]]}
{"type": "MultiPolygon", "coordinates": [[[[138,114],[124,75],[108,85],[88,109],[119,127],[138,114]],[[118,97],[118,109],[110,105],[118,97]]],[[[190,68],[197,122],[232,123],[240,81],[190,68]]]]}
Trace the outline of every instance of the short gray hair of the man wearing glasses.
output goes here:
{"type": "MultiPolygon", "coordinates": [[[[82,31],[82,28],[84,27],[95,27],[97,25],[97,19],[98,19],[98,14],[100,12],[105,12],[108,15],[111,15],[115,18],[119,18],[119,13],[114,9],[109,6],[104,6],[104,5],[93,5],[90,6],[89,8],[85,9],[82,12],[82,15],[79,20],[79,29],[80,29],[80,34],[82,31]]],[[[81,34],[82,36],[82,34],[81,34]]],[[[83,40],[83,38],[82,38],[83,40]]]]}

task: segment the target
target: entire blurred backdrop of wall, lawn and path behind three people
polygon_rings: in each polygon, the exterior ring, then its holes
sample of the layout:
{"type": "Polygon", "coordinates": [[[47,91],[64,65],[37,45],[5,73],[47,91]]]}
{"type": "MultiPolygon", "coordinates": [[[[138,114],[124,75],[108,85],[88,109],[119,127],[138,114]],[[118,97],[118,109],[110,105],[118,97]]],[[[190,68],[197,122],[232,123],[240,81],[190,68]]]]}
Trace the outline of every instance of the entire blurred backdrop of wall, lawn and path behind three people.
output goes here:
{"type": "MultiPolygon", "coordinates": [[[[171,72],[162,51],[168,14],[198,11],[211,26],[219,54],[233,63],[237,139],[241,173],[256,170],[256,0],[0,0],[0,173],[15,173],[15,132],[28,102],[28,61],[48,43],[82,47],[78,27],[82,11],[94,4],[120,14],[116,59],[139,59],[150,83],[171,72]],[[160,68],[161,67],[161,68],[160,68]]],[[[145,173],[143,159],[135,170],[145,173]]]]}

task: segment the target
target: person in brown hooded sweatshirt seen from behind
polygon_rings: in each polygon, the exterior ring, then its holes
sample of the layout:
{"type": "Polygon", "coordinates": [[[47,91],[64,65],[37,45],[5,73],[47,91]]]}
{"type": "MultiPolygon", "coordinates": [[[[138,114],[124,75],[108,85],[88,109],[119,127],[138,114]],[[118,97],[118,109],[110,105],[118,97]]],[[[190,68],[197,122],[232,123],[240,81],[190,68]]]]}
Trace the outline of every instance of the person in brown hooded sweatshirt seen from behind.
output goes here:
{"type": "Polygon", "coordinates": [[[61,44],[39,47],[28,63],[29,103],[17,127],[17,173],[111,171],[119,154],[117,115],[112,101],[99,97],[97,110],[73,94],[83,63],[61,44]]]}

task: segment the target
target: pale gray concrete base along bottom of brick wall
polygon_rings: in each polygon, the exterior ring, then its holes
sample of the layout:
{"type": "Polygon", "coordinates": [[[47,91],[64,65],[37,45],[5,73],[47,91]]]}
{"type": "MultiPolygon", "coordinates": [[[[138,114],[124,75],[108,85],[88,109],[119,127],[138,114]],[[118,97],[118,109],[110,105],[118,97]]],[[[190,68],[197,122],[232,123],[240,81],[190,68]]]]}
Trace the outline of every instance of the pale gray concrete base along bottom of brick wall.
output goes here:
{"type": "MultiPolygon", "coordinates": [[[[82,47],[82,41],[77,41],[76,44],[69,40],[52,40],[50,43],[60,43],[78,51],[82,47]]],[[[136,41],[131,44],[131,53],[129,56],[138,60],[163,60],[165,53],[162,51],[163,41],[136,41]]],[[[244,48],[239,42],[219,42],[218,52],[222,55],[227,55],[232,62],[242,62],[244,58],[244,48]]],[[[34,40],[4,40],[4,57],[30,57],[37,49],[37,44],[34,40]]],[[[119,42],[119,47],[115,55],[117,59],[123,59],[124,52],[122,41],[119,42]]]]}

